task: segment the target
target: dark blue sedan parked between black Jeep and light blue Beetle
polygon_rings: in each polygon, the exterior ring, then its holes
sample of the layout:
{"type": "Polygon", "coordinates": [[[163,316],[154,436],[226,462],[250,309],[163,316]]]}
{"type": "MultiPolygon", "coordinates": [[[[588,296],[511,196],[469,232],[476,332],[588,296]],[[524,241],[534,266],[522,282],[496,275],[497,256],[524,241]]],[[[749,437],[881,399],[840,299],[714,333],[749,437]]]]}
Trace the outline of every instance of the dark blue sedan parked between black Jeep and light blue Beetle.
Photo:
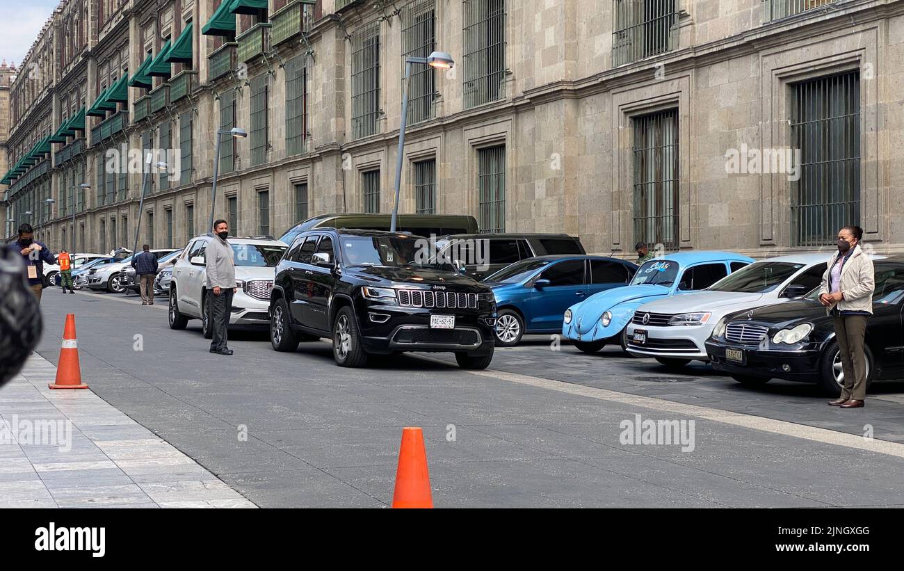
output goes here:
{"type": "Polygon", "coordinates": [[[575,301],[627,286],[637,265],[615,257],[540,256],[484,278],[496,298],[496,346],[512,347],[525,333],[558,333],[575,301]]]}

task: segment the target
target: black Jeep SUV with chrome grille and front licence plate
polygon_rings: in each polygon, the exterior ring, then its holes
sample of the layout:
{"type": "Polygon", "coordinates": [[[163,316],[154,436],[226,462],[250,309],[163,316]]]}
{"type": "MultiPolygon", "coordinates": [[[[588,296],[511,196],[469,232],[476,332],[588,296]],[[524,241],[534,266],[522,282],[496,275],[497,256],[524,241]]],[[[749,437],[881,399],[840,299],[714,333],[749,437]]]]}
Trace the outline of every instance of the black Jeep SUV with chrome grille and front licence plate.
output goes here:
{"type": "Polygon", "coordinates": [[[270,342],[333,340],[342,367],[369,354],[452,351],[462,369],[493,360],[493,291],[463,276],[419,236],[320,228],[292,241],[270,295],[270,342]]]}

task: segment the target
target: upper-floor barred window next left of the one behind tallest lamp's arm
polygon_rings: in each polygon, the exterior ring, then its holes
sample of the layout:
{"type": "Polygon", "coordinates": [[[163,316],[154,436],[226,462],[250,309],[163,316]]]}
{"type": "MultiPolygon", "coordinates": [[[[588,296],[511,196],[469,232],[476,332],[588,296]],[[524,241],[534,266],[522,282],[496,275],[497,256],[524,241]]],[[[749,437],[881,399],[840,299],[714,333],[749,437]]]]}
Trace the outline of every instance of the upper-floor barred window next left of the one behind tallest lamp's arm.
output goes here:
{"type": "Polygon", "coordinates": [[[358,139],[377,132],[380,117],[380,22],[354,33],[352,52],[352,134],[358,139]]]}

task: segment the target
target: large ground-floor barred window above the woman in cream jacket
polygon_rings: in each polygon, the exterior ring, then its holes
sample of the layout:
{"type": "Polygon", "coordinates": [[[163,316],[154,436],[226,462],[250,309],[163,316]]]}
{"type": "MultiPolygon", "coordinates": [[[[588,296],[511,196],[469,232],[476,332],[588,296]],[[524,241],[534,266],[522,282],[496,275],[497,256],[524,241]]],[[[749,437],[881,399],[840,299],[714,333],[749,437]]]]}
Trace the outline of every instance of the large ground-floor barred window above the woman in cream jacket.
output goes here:
{"type": "Polygon", "coordinates": [[[793,89],[791,145],[801,164],[791,184],[791,240],[827,246],[838,229],[860,223],[860,72],[793,89]]]}

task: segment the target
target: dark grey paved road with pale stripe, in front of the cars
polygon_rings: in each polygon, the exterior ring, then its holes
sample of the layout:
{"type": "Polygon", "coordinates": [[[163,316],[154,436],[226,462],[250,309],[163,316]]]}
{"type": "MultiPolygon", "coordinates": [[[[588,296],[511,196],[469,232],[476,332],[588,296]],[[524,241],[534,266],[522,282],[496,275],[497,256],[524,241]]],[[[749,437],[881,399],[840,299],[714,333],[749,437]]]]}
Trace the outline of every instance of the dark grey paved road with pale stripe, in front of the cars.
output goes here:
{"type": "Polygon", "coordinates": [[[171,331],[165,304],[135,300],[46,291],[39,352],[56,362],[75,313],[91,388],[262,507],[389,505],[402,426],[424,428],[438,507],[904,505],[900,384],[840,411],[805,386],[751,391],[544,338],[480,372],[443,354],[346,370],[325,342],[277,353],[266,333],[222,357],[197,322],[171,331]],[[636,415],[694,421],[693,451],[621,444],[636,415]]]}

